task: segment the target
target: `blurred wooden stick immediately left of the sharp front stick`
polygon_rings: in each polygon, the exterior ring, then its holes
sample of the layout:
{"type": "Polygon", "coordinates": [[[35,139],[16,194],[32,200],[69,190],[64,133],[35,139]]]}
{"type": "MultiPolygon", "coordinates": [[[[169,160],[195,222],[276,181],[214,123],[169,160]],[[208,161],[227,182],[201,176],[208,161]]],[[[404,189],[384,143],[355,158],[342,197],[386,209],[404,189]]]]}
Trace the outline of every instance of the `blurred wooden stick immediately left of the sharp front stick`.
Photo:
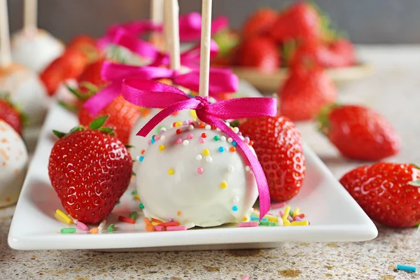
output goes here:
{"type": "Polygon", "coordinates": [[[165,0],[165,28],[167,50],[171,59],[171,69],[181,68],[179,50],[179,6],[178,0],[165,0]]]}

